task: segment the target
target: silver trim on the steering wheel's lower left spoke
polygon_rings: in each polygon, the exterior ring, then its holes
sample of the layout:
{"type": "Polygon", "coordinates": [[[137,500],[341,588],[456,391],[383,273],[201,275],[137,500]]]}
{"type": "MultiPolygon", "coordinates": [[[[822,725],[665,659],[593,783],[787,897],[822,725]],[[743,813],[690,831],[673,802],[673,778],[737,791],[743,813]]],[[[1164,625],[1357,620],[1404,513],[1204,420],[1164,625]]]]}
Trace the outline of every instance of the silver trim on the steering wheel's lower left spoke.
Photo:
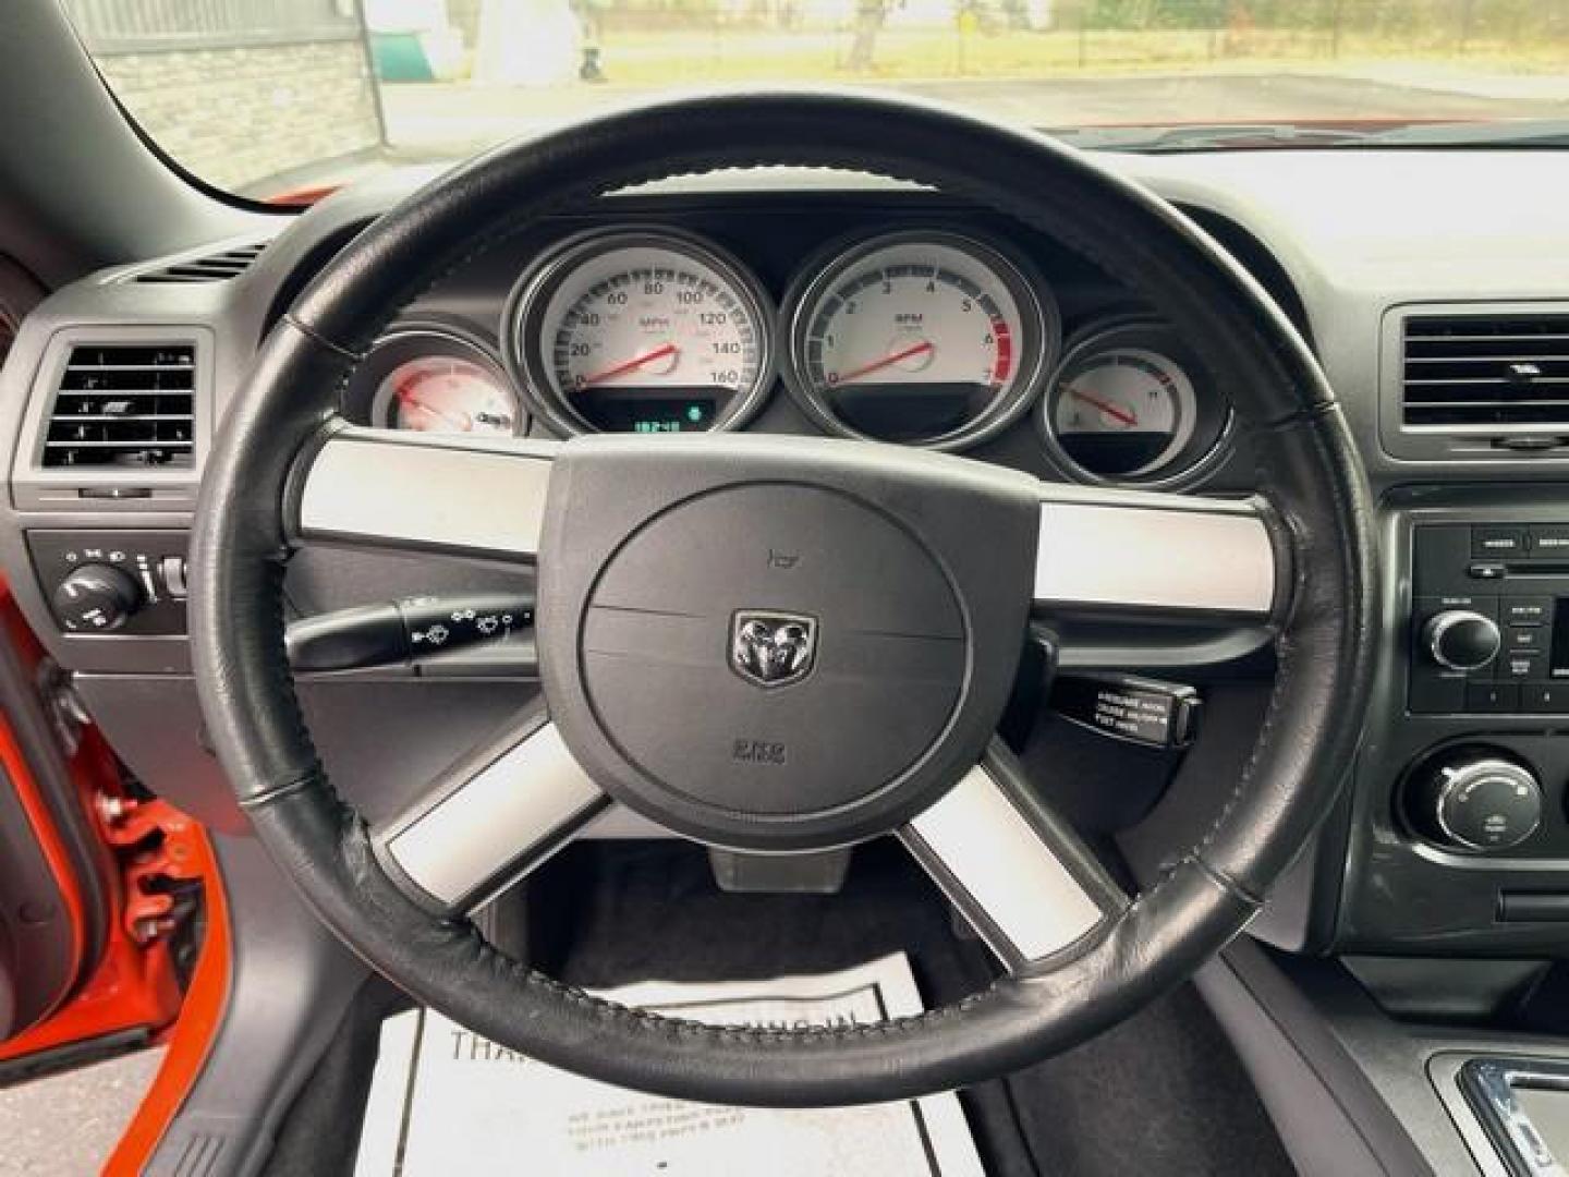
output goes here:
{"type": "Polygon", "coordinates": [[[386,843],[436,899],[472,907],[521,877],[609,805],[554,723],[471,777],[386,843]]]}

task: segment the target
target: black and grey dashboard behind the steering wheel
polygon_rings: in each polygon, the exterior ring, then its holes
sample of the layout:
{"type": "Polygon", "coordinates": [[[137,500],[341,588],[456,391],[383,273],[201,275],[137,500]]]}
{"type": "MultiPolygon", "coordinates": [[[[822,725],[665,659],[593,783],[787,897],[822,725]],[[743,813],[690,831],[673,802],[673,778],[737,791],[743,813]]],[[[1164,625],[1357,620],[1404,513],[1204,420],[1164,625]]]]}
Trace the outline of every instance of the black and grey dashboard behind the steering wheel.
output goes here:
{"type": "MultiPolygon", "coordinates": [[[[1177,202],[1293,319],[1378,508],[1384,629],[1362,752],[1255,931],[1312,951],[1561,954],[1569,560],[1553,545],[1569,534],[1569,162],[1108,162],[1177,202]],[[1487,813],[1467,808],[1475,797],[1487,813]]],[[[202,461],[270,326],[428,174],[377,177],[297,217],[237,215],[232,239],[78,281],[27,315],[0,375],[0,567],[121,756],[218,829],[243,819],[202,744],[184,632],[202,461]],[[63,598],[85,576],[102,623],[63,598]]],[[[1257,480],[1203,356],[1090,259],[938,193],[846,174],[670,180],[519,226],[406,301],[342,405],[361,424],[438,433],[803,433],[1059,482],[1244,496],[1257,480]]],[[[286,592],[309,617],[515,592],[518,578],[306,549],[286,592]]],[[[1207,739],[1175,785],[1078,799],[1120,808],[1130,860],[1152,869],[1199,832],[1207,791],[1213,802],[1235,780],[1268,698],[1268,634],[1189,639],[1130,645],[1120,662],[1205,694],[1207,739]]],[[[529,659],[515,654],[306,676],[323,756],[364,783],[353,799],[367,816],[527,700],[529,659]]]]}

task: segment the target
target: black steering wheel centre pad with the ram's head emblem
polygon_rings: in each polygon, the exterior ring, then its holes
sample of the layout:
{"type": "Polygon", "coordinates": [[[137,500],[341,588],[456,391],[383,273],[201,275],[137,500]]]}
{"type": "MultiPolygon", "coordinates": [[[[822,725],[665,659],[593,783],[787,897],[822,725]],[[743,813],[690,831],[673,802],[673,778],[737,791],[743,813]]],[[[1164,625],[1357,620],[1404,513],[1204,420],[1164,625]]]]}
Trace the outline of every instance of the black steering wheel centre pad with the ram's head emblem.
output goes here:
{"type": "Polygon", "coordinates": [[[552,472],[537,634],[590,775],[679,833],[883,833],[981,755],[1026,637],[1023,476],[838,441],[582,438],[552,472]]]}

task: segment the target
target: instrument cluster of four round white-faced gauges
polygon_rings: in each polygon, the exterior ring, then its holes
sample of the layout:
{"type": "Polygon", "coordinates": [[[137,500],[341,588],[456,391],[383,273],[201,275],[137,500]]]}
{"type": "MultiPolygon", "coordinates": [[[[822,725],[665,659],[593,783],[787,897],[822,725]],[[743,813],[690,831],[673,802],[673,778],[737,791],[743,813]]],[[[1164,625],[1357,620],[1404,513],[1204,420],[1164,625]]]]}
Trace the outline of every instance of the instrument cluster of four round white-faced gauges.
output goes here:
{"type": "Polygon", "coordinates": [[[511,286],[491,342],[400,325],[348,389],[388,428],[557,436],[745,427],[783,384],[822,430],[957,450],[1026,414],[1081,482],[1186,485],[1232,411],[1163,322],[1064,337],[1047,278],[1010,243],[934,224],[841,239],[775,301],[717,242],[623,226],[557,242],[511,286]]]}

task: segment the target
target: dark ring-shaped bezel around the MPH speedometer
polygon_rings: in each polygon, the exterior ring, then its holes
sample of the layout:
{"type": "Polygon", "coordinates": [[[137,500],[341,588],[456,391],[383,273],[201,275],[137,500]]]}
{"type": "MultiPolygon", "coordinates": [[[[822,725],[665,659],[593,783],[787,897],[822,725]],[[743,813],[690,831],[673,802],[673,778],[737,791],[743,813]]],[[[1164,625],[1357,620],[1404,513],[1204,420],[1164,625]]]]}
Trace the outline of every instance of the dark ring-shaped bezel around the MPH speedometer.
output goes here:
{"type": "Polygon", "coordinates": [[[502,308],[501,350],[507,374],[529,411],[557,436],[601,432],[573,410],[563,391],[555,388],[555,375],[541,347],[540,322],[549,309],[551,298],[577,267],[612,250],[624,248],[670,250],[693,257],[730,282],[750,304],[758,336],[756,377],[750,388],[736,389],[725,411],[715,414],[714,424],[703,432],[725,433],[741,428],[756,416],[774,389],[777,375],[774,300],[758,276],[722,245],[701,234],[664,224],[610,224],[563,237],[535,257],[513,282],[502,308]]]}

